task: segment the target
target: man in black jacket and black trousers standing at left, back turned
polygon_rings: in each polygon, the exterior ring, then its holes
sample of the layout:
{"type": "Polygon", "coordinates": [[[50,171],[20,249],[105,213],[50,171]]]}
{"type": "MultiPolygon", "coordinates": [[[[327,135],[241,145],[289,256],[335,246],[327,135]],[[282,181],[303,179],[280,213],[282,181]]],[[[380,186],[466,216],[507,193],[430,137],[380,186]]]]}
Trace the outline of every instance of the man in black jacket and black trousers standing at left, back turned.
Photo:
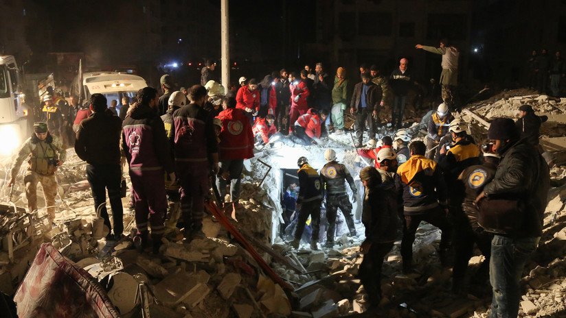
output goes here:
{"type": "Polygon", "coordinates": [[[76,134],[75,151],[79,158],[86,161],[87,180],[91,185],[95,210],[100,209],[100,217],[104,224],[110,226],[108,210],[106,210],[106,189],[112,208],[114,234],[106,238],[120,239],[124,232],[122,221],[122,196],[120,182],[120,132],[122,120],[106,108],[106,97],[93,94],[90,98],[93,114],[80,122],[76,134]]]}

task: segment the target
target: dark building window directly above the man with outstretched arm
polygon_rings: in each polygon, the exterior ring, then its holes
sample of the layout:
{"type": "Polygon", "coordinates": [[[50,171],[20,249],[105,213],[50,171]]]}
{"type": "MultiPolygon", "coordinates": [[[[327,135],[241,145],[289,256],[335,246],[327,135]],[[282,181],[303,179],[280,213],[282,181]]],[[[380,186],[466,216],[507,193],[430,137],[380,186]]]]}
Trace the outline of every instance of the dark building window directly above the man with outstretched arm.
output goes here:
{"type": "Polygon", "coordinates": [[[466,40],[468,38],[467,14],[429,14],[427,21],[427,38],[440,40],[466,40]]]}

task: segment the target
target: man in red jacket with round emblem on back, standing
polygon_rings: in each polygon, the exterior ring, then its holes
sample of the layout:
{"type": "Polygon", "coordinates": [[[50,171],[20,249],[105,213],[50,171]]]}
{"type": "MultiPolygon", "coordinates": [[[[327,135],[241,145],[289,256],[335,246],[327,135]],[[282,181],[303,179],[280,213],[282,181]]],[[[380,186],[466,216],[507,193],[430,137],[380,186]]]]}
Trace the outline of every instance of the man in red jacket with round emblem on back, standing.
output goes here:
{"type": "Polygon", "coordinates": [[[226,194],[226,184],[230,181],[231,217],[236,219],[244,160],[253,157],[253,133],[245,112],[236,108],[234,98],[228,97],[223,108],[224,110],[216,117],[222,121],[218,144],[220,171],[218,171],[219,178],[216,178],[216,187],[222,199],[226,194]]]}

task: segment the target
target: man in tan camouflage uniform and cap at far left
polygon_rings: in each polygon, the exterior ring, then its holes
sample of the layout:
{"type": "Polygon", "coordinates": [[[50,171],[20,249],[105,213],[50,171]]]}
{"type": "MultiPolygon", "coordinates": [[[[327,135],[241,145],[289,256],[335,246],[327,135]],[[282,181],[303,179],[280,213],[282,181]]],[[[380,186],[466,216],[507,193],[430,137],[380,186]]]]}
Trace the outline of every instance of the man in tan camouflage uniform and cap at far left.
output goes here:
{"type": "Polygon", "coordinates": [[[12,171],[10,171],[12,178],[8,182],[8,186],[14,185],[21,164],[29,158],[27,162],[30,165],[23,177],[28,212],[37,210],[37,183],[40,182],[49,221],[55,220],[55,196],[57,195],[55,172],[65,162],[66,156],[67,152],[59,138],[52,136],[47,130],[47,123],[34,123],[34,134],[27,138],[21,146],[14,160],[12,171]]]}

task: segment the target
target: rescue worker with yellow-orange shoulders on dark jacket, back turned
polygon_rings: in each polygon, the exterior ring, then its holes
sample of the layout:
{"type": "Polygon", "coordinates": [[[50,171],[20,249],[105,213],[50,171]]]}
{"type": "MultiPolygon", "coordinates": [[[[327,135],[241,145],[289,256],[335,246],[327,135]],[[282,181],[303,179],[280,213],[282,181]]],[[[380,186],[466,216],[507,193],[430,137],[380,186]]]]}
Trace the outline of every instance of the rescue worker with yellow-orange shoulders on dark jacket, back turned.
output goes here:
{"type": "Polygon", "coordinates": [[[411,158],[397,169],[398,188],[403,188],[403,273],[412,270],[413,243],[420,222],[430,223],[442,232],[438,251],[442,265],[446,265],[452,234],[446,219],[446,185],[440,169],[436,162],[425,158],[427,147],[422,141],[414,141],[409,149],[411,158]]]}

